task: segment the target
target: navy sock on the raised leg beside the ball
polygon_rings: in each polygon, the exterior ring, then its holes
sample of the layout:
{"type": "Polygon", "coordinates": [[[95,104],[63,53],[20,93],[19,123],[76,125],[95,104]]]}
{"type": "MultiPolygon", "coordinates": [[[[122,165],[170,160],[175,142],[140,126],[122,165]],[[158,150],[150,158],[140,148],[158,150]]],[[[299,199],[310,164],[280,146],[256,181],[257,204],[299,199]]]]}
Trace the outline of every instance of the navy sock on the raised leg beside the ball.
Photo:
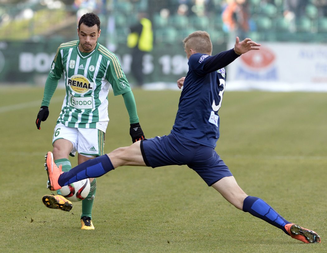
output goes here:
{"type": "Polygon", "coordinates": [[[99,156],[64,172],[60,175],[58,183],[60,186],[64,186],[86,178],[98,178],[113,169],[114,167],[107,155],[99,156]]]}

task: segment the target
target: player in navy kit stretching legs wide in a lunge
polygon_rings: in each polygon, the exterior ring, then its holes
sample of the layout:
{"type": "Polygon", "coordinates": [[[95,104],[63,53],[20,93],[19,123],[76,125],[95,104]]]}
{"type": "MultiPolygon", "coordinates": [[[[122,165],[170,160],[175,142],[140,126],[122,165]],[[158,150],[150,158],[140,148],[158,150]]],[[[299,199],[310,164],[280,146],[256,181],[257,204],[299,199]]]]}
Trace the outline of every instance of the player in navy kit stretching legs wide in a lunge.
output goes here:
{"type": "Polygon", "coordinates": [[[124,165],[153,168],[187,165],[236,208],[282,229],[292,238],[305,243],[320,242],[316,232],[286,221],[264,200],[248,196],[215,151],[219,138],[217,112],[225,90],[224,67],[241,54],[258,50],[260,44],[249,38],[240,42],[236,37],[233,49],[211,56],[212,43],[207,32],[193,32],[183,43],[189,71],[185,78],[177,81],[183,90],[171,133],[118,148],[77,165],[69,172],[61,172],[53,162],[52,153],[48,152],[45,164],[48,187],[57,190],[77,180],[100,177],[124,165]]]}

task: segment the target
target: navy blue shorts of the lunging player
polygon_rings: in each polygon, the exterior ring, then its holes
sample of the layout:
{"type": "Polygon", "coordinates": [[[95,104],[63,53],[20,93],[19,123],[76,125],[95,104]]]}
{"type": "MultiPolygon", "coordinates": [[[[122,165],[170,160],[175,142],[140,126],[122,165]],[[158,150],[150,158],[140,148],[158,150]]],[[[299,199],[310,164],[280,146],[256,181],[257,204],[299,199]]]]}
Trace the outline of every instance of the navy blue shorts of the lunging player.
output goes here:
{"type": "Polygon", "coordinates": [[[215,149],[198,144],[175,134],[141,141],[141,152],[146,166],[187,165],[211,186],[218,180],[232,176],[215,149]]]}

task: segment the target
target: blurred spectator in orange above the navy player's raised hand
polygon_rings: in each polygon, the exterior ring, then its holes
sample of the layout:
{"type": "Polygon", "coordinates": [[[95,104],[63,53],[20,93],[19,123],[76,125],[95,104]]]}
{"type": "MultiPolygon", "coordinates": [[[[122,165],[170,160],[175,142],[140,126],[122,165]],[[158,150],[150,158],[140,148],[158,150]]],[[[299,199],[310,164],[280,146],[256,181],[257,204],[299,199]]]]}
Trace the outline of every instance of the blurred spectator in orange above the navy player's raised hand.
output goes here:
{"type": "MultiPolygon", "coordinates": [[[[222,12],[224,30],[238,36],[240,40],[247,37],[249,32],[250,11],[247,0],[229,0],[227,6],[222,12]]],[[[235,39],[235,36],[231,36],[235,39]]]]}

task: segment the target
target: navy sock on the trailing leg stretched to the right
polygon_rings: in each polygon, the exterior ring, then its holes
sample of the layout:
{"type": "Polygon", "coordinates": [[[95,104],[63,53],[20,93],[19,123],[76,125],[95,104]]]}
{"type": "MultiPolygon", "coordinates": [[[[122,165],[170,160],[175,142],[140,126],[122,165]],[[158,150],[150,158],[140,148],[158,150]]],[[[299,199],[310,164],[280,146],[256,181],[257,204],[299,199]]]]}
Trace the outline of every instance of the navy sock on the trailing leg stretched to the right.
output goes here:
{"type": "Polygon", "coordinates": [[[262,199],[253,196],[246,197],[243,202],[243,211],[249,212],[253,216],[258,217],[261,220],[267,221],[271,225],[282,229],[285,234],[289,235],[284,226],[291,222],[286,221],[262,199]]]}

